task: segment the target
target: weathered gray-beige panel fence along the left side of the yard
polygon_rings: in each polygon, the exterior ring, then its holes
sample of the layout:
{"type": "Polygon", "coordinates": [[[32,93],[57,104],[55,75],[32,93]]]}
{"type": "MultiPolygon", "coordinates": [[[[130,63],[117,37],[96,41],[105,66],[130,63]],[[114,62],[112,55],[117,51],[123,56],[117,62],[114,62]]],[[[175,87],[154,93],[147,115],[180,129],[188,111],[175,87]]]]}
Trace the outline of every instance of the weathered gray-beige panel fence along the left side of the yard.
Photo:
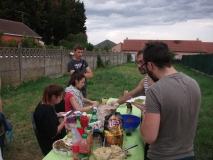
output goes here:
{"type": "MultiPolygon", "coordinates": [[[[0,77],[2,85],[17,86],[22,82],[36,80],[40,77],[60,77],[67,72],[67,63],[71,59],[71,50],[45,48],[11,48],[0,47],[0,77]]],[[[97,55],[109,66],[127,62],[125,53],[84,51],[82,59],[86,60],[92,70],[97,68],[97,55]]]]}

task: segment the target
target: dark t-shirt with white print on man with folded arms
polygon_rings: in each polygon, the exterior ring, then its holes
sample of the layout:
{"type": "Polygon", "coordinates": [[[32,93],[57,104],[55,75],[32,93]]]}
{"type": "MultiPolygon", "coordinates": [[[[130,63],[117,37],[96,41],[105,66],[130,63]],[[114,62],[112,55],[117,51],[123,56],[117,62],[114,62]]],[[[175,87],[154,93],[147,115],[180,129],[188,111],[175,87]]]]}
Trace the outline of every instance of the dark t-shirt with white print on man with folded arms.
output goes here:
{"type": "MultiPolygon", "coordinates": [[[[80,71],[82,73],[86,73],[86,68],[88,66],[89,65],[87,61],[83,59],[80,59],[79,61],[72,59],[69,61],[67,65],[67,71],[70,72],[70,70],[75,70],[75,71],[80,71]]],[[[86,88],[87,88],[87,79],[85,80],[85,85],[82,87],[81,90],[86,90],[86,88]]]]}

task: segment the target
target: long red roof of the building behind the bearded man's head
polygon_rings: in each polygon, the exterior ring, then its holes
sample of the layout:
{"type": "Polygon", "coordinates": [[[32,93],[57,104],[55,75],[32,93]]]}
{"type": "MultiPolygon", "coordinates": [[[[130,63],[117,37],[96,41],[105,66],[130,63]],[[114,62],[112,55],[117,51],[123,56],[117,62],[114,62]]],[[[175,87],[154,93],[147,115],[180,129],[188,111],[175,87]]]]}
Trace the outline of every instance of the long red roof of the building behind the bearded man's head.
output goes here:
{"type": "MultiPolygon", "coordinates": [[[[123,51],[139,51],[143,48],[145,43],[156,40],[134,40],[125,39],[123,43],[123,51]]],[[[166,43],[173,52],[185,52],[185,53],[209,53],[200,40],[157,40],[166,43]]],[[[211,43],[211,42],[210,42],[211,43]]],[[[212,45],[213,43],[211,43],[212,45]]],[[[208,44],[209,45],[209,44],[208,44]]],[[[210,45],[210,46],[211,46],[210,45]]]]}

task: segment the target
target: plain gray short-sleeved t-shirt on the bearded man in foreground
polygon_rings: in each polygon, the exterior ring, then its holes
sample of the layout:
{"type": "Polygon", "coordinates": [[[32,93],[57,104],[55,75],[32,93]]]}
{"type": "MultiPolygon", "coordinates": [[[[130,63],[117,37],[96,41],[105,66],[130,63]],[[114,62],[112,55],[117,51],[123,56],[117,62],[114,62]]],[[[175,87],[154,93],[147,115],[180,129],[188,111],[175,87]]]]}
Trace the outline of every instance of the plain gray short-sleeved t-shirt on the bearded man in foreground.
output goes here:
{"type": "Polygon", "coordinates": [[[197,82],[183,73],[165,76],[146,92],[146,113],[160,114],[157,139],[148,158],[180,159],[194,155],[193,142],[201,105],[197,82]]]}

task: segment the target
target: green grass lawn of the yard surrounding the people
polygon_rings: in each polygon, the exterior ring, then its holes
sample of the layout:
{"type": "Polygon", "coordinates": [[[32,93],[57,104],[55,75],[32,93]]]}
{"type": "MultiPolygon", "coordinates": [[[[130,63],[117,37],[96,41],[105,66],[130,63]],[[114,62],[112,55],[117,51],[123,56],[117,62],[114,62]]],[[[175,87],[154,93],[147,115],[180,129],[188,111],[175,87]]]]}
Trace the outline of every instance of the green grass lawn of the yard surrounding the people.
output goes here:
{"type": "MultiPolygon", "coordinates": [[[[190,70],[181,64],[174,67],[194,78],[202,94],[202,104],[194,142],[197,160],[213,159],[213,78],[190,70]]],[[[88,97],[99,100],[102,97],[118,98],[124,90],[132,90],[144,77],[134,63],[98,69],[94,78],[88,80],[88,97]]],[[[43,154],[36,140],[30,113],[41,100],[43,89],[58,83],[66,87],[69,75],[60,78],[41,78],[12,88],[2,86],[3,113],[14,125],[15,141],[4,151],[4,160],[41,160],[43,154]]]]}

